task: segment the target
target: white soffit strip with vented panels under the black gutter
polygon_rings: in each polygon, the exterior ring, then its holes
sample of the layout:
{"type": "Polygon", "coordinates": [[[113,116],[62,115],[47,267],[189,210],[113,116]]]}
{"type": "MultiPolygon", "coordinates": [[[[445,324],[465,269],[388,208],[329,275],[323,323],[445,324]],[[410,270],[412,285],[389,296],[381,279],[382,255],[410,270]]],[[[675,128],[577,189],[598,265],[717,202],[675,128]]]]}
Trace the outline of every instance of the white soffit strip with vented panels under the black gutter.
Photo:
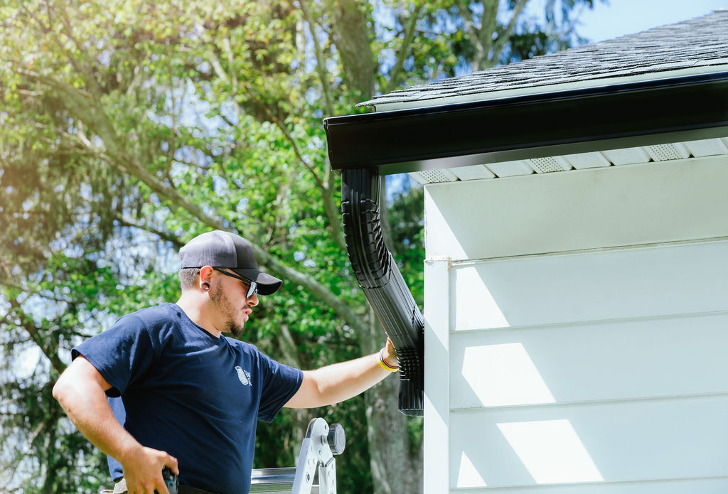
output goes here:
{"type": "Polygon", "coordinates": [[[544,156],[512,162],[478,164],[472,167],[424,170],[422,172],[410,172],[410,175],[419,183],[426,185],[428,183],[456,182],[458,180],[506,178],[534,173],[566,172],[585,168],[666,162],[675,159],[686,159],[691,156],[694,158],[706,156],[728,157],[728,138],[691,140],[685,143],[611,149],[609,151],[566,154],[563,156],[544,156]]]}

